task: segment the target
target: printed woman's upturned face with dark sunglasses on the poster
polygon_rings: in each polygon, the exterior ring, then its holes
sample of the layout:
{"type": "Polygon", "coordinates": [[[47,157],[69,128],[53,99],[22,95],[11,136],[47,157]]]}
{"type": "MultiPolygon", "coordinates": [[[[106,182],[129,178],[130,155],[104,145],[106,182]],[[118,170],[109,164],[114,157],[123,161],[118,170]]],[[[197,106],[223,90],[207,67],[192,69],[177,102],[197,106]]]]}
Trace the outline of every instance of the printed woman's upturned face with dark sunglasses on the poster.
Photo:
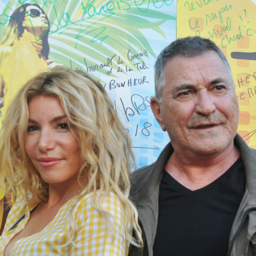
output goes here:
{"type": "Polygon", "coordinates": [[[46,31],[49,30],[49,20],[45,13],[34,5],[26,7],[25,17],[22,23],[24,29],[41,38],[46,31]]]}

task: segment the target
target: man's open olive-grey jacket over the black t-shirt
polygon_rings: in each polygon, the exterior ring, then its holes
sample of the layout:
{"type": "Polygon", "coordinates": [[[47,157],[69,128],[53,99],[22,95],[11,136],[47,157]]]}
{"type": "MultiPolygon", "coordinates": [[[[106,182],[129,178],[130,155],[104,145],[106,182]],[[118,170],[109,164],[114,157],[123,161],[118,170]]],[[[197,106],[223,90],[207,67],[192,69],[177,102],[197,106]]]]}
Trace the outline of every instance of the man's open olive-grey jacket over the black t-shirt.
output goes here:
{"type": "MultiPolygon", "coordinates": [[[[234,143],[244,163],[246,190],[230,232],[227,256],[256,256],[256,150],[250,149],[239,135],[236,135],[234,143]]],[[[159,186],[164,166],[172,153],[173,147],[169,143],[156,162],[132,173],[131,199],[139,212],[144,248],[131,245],[129,256],[153,255],[159,186]]]]}

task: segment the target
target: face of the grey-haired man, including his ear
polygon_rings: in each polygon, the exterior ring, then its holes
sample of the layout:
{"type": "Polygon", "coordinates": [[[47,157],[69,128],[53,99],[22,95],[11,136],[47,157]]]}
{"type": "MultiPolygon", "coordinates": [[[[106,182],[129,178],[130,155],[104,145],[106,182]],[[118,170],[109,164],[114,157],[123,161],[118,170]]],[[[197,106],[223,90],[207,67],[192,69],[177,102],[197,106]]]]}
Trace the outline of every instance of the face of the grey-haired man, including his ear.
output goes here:
{"type": "Polygon", "coordinates": [[[164,66],[163,99],[151,108],[174,150],[211,155],[233,143],[239,108],[233,80],[217,53],[175,56],[164,66]]]}

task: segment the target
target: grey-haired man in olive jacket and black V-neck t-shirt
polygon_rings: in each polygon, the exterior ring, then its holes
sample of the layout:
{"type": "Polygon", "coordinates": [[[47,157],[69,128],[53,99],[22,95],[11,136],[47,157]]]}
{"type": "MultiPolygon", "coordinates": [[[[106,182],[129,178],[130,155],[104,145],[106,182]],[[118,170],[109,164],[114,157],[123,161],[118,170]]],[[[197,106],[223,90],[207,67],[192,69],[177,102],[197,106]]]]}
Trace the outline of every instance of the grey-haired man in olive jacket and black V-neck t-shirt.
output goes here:
{"type": "Polygon", "coordinates": [[[183,38],[155,64],[151,109],[171,142],[133,173],[143,250],[130,255],[256,255],[256,151],[236,134],[230,66],[214,42],[183,38]]]}

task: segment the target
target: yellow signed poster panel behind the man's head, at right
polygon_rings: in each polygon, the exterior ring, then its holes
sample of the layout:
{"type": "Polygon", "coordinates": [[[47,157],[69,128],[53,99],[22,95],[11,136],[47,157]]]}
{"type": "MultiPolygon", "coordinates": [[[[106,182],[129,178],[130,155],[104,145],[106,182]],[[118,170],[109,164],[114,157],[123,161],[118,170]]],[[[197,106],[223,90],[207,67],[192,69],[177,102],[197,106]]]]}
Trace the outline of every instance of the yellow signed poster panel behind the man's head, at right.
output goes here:
{"type": "Polygon", "coordinates": [[[238,133],[256,148],[255,0],[178,0],[177,38],[209,38],[223,51],[240,108],[238,133]]]}

